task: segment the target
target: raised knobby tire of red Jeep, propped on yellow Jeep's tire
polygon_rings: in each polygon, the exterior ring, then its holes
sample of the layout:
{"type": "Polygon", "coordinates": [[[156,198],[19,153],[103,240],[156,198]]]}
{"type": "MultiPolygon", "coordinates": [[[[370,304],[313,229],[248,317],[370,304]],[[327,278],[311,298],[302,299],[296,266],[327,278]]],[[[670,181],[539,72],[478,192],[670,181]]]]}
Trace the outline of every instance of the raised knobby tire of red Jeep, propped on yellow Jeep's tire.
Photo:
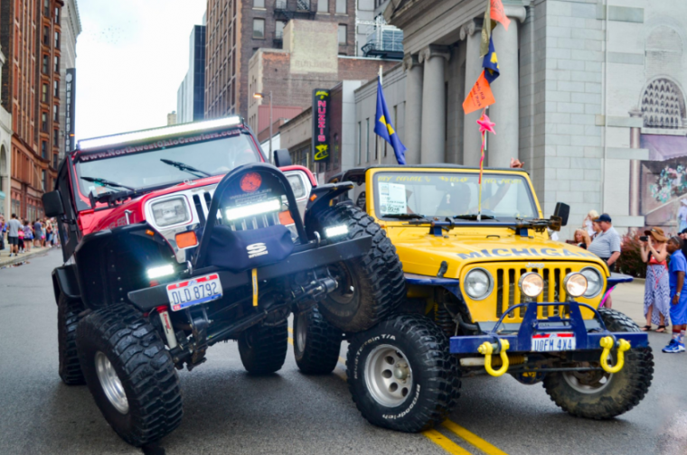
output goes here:
{"type": "Polygon", "coordinates": [[[315,230],[322,236],[325,228],[348,227],[348,234],[329,239],[334,243],[372,237],[372,247],[365,255],[329,267],[339,287],[319,303],[325,319],[339,329],[349,333],[370,329],[391,316],[406,294],[396,248],[374,219],[357,207],[339,204],[323,210],[317,218],[315,230]]]}

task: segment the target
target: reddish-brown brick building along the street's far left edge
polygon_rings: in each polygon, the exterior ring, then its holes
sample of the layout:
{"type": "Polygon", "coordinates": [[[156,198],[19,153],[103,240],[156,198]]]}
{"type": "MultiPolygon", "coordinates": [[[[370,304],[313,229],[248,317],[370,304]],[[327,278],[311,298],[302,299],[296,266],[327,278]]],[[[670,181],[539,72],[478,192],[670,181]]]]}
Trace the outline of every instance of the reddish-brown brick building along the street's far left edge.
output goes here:
{"type": "Polygon", "coordinates": [[[2,0],[2,104],[12,115],[12,211],[42,216],[60,151],[61,0],[2,0]]]}

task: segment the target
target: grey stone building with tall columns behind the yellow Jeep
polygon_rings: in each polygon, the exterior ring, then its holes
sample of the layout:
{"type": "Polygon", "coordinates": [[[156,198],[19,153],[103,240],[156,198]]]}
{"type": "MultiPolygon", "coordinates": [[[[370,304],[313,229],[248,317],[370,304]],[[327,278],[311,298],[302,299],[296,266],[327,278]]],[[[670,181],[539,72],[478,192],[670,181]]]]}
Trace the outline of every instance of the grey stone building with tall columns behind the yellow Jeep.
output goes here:
{"type": "MultiPolygon", "coordinates": [[[[405,58],[384,92],[408,163],[479,164],[479,112],[464,115],[482,71],[486,0],[391,0],[405,58]]],[[[650,0],[503,0],[494,29],[501,75],[486,164],[525,162],[544,216],[571,206],[569,228],[590,209],[614,226],[687,227],[687,3],[650,0]]],[[[376,81],[355,91],[355,165],[395,163],[375,150],[376,81]],[[368,127],[370,133],[368,134],[368,127]]]]}

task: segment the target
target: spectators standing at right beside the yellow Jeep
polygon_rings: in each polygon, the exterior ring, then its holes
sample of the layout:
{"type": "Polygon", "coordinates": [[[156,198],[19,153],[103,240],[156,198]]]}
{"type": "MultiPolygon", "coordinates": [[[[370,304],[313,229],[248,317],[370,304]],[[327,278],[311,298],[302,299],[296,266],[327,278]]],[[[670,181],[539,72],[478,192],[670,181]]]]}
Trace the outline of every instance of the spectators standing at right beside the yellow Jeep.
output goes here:
{"type": "MultiPolygon", "coordinates": [[[[685,200],[687,201],[687,200],[685,200]]],[[[687,205],[687,204],[685,204],[687,205]]],[[[686,211],[687,213],[687,211],[686,211]]],[[[641,330],[664,333],[673,324],[673,336],[663,352],[684,352],[684,332],[687,329],[687,289],[682,289],[687,274],[687,226],[674,237],[666,236],[662,228],[648,228],[639,237],[640,255],[646,264],[644,315],[646,325],[641,330]]],[[[622,240],[607,213],[591,210],[575,231],[570,244],[598,255],[613,273],[621,254],[622,240]]],[[[611,308],[610,292],[601,305],[611,308]]]]}

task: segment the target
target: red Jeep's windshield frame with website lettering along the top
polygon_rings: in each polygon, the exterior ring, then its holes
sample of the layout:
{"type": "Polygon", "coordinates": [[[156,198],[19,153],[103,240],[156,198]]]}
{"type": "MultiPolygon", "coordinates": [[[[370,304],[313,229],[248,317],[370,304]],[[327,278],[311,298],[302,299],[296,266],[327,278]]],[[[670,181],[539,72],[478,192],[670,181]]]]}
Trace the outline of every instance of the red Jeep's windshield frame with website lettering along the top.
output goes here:
{"type": "MultiPolygon", "coordinates": [[[[90,200],[89,200],[89,195],[84,194],[82,185],[81,185],[81,180],[80,180],[80,163],[89,163],[89,162],[94,162],[94,161],[104,161],[104,160],[113,160],[117,159],[118,157],[126,157],[130,155],[138,155],[138,154],[143,154],[143,153],[155,153],[155,152],[161,152],[166,149],[173,149],[173,148],[180,148],[184,146],[189,146],[193,144],[206,144],[206,143],[211,143],[213,141],[221,141],[225,139],[229,139],[234,136],[240,136],[240,135],[247,135],[248,136],[248,145],[250,146],[251,149],[255,153],[257,153],[257,156],[259,158],[258,161],[255,163],[266,163],[266,158],[264,153],[262,152],[262,149],[258,146],[258,144],[255,141],[255,138],[253,135],[249,132],[249,130],[241,125],[238,126],[233,126],[230,128],[222,128],[221,130],[213,130],[213,131],[201,131],[201,132],[194,132],[191,135],[183,135],[181,137],[162,137],[162,138],[151,138],[146,141],[139,141],[136,142],[135,144],[114,144],[110,145],[106,148],[99,149],[99,150],[93,150],[93,151],[88,151],[88,152],[81,152],[80,150],[76,150],[73,153],[71,153],[71,156],[69,157],[70,159],[68,160],[70,165],[71,165],[71,187],[72,190],[74,191],[74,200],[75,200],[75,206],[78,212],[84,211],[84,210],[89,210],[93,209],[90,205],[90,200]],[[182,138],[184,139],[189,139],[189,138],[196,138],[196,137],[201,137],[201,139],[193,139],[190,141],[187,141],[184,144],[174,144],[174,141],[181,140],[182,138]],[[144,150],[142,151],[137,151],[136,152],[128,152],[129,149],[136,149],[139,147],[143,147],[144,150]],[[108,155],[108,156],[103,156],[103,155],[108,155]],[[94,156],[100,155],[101,157],[95,158],[94,156]]],[[[228,172],[231,172],[228,171],[228,172]]],[[[218,177],[221,175],[225,175],[227,172],[220,172],[216,174],[212,174],[209,177],[193,177],[192,174],[188,173],[187,177],[185,178],[180,178],[174,179],[173,181],[165,182],[165,183],[154,183],[146,186],[141,186],[141,187],[136,187],[136,191],[130,191],[126,190],[126,192],[132,193],[132,197],[138,197],[146,192],[150,191],[155,191],[155,190],[163,190],[165,188],[173,187],[174,185],[178,185],[179,183],[182,183],[184,181],[195,181],[195,180],[201,180],[205,178],[212,178],[212,177],[218,177]]],[[[99,178],[106,178],[105,176],[92,176],[89,175],[89,177],[99,177],[99,178]]],[[[110,194],[113,194],[115,192],[119,192],[117,190],[113,191],[108,191],[110,194]]],[[[122,190],[121,192],[125,192],[125,190],[122,190]]],[[[102,194],[108,194],[108,193],[102,193],[102,194]]],[[[96,204],[96,210],[98,209],[108,209],[108,204],[105,202],[99,202],[96,204]]]]}

